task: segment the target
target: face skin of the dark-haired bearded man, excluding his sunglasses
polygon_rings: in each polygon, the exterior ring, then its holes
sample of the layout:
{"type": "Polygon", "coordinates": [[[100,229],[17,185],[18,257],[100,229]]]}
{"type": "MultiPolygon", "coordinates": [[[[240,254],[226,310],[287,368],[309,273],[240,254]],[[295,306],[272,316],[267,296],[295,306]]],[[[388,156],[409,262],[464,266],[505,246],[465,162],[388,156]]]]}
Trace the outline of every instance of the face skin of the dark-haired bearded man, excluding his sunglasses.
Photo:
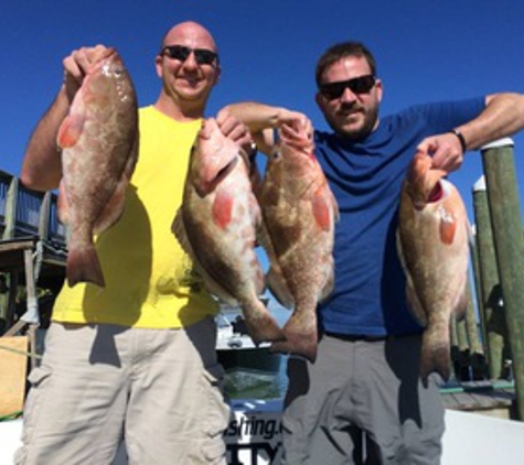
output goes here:
{"type": "MultiPolygon", "coordinates": [[[[371,69],[364,57],[346,56],[324,71],[322,84],[368,75],[371,69]]],[[[353,91],[345,87],[340,97],[329,97],[318,91],[316,99],[328,123],[341,136],[360,140],[378,126],[378,105],[382,100],[379,79],[375,79],[368,91],[353,91]]]]}

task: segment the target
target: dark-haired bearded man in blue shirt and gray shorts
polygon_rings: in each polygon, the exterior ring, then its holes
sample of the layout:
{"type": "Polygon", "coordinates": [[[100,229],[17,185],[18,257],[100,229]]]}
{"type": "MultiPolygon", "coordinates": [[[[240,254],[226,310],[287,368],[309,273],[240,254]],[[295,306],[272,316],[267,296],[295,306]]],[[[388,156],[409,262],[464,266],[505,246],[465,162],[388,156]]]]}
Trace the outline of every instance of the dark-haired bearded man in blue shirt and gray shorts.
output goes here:
{"type": "MultiPolygon", "coordinates": [[[[524,127],[524,97],[498,94],[420,105],[378,118],[383,83],[361,43],[330,47],[316,71],[317,104],[332,132],[316,131],[316,155],[340,208],[334,291],[318,309],[317,360],[292,355],[284,413],[287,465],[438,464],[443,408],[437,375],[419,377],[420,334],[405,298],[395,230],[406,169],[417,151],[457,170],[467,150],[524,127]]],[[[302,113],[242,102],[227,107],[264,153],[275,128],[302,113]]]]}

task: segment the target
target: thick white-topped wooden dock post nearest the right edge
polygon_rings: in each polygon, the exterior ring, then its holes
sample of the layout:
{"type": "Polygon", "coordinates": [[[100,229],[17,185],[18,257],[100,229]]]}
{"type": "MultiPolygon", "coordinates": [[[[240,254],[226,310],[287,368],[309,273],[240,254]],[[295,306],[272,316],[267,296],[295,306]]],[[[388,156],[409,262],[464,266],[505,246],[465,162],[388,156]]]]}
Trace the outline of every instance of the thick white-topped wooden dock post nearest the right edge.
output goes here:
{"type": "Polygon", "coordinates": [[[513,360],[517,414],[524,421],[524,237],[513,141],[481,149],[504,314],[513,360]]]}

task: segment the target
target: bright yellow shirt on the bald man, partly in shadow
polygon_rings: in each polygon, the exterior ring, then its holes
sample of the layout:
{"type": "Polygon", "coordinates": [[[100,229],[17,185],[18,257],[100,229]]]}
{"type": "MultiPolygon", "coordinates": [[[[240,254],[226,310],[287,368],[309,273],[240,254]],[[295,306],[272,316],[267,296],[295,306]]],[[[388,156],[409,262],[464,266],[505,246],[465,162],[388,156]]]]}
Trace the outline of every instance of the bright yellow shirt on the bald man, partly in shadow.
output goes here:
{"type": "Polygon", "coordinates": [[[172,328],[217,312],[171,231],[182,203],[191,145],[201,121],[139,110],[140,151],[120,220],[96,238],[106,288],[66,283],[53,320],[172,328]]]}

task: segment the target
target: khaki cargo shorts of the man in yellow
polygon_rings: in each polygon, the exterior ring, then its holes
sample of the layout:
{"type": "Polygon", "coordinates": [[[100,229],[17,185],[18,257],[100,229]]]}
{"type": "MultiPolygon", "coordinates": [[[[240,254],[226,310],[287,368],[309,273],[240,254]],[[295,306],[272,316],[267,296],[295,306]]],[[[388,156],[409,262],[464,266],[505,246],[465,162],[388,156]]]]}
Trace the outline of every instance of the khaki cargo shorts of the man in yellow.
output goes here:
{"type": "Polygon", "coordinates": [[[124,437],[129,464],[225,464],[215,338],[212,318],[185,329],[53,323],[15,464],[110,464],[124,437]]]}

